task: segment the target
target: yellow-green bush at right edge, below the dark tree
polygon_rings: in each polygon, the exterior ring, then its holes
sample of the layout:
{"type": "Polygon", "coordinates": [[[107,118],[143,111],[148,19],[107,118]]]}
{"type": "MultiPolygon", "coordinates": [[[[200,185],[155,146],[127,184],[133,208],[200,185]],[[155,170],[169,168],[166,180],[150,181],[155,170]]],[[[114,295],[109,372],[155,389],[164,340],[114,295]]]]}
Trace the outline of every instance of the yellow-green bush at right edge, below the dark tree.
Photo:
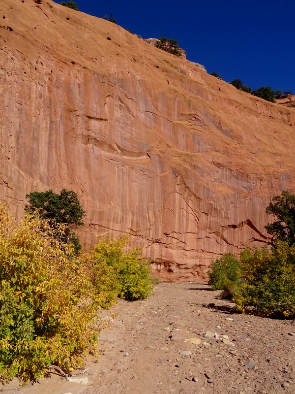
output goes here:
{"type": "Polygon", "coordinates": [[[237,310],[251,307],[260,316],[295,313],[295,246],[278,241],[270,251],[265,247],[241,253],[241,285],[235,295],[237,310]]]}

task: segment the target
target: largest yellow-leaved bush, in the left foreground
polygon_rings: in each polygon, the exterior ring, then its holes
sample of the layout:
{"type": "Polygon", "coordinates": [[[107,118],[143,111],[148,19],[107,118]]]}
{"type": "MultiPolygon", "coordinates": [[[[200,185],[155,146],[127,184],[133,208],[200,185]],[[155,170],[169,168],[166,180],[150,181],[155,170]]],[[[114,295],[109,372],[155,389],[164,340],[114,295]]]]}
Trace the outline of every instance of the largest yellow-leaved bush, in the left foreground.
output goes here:
{"type": "Polygon", "coordinates": [[[44,376],[48,364],[80,367],[95,351],[98,297],[72,247],[46,220],[27,214],[19,227],[0,205],[0,380],[44,376]]]}

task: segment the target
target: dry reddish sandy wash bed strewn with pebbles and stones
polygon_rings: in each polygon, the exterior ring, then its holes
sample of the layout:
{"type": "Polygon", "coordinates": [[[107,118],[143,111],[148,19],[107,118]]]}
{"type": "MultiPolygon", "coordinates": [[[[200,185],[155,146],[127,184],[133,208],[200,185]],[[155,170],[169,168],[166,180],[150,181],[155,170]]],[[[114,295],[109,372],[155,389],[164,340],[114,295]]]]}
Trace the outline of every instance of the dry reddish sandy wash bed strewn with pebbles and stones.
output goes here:
{"type": "Polygon", "coordinates": [[[295,321],[236,314],[206,285],[160,284],[154,293],[104,311],[117,318],[101,333],[98,362],[88,361],[88,385],[51,374],[15,393],[295,394],[295,321]]]}

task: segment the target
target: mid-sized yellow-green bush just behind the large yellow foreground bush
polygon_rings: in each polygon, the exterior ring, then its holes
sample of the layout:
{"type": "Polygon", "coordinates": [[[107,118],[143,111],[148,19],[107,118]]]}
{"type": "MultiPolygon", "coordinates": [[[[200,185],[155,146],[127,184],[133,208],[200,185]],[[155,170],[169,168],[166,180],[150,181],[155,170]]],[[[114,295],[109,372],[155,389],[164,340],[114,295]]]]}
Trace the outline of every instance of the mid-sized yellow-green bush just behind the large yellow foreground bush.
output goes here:
{"type": "MultiPolygon", "coordinates": [[[[128,236],[116,240],[110,237],[106,240],[100,239],[92,251],[91,256],[96,261],[93,265],[95,272],[99,272],[101,264],[110,266],[112,284],[109,281],[105,283],[108,299],[112,299],[116,292],[119,297],[128,301],[144,299],[152,294],[149,261],[142,258],[139,249],[133,248],[124,252],[128,240],[128,236]]],[[[99,275],[94,273],[94,278],[97,283],[95,286],[100,287],[99,275]]]]}

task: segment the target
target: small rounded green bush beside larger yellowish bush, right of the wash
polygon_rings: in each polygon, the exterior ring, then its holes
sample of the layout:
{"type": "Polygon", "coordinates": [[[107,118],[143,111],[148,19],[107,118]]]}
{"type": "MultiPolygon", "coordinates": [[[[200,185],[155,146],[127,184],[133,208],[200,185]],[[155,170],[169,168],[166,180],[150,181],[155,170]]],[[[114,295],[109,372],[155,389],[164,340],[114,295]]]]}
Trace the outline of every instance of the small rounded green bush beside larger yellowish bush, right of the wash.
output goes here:
{"type": "Polygon", "coordinates": [[[239,270],[240,263],[237,257],[232,253],[226,253],[212,262],[208,271],[208,285],[213,290],[222,290],[223,296],[231,299],[241,283],[239,270]]]}

